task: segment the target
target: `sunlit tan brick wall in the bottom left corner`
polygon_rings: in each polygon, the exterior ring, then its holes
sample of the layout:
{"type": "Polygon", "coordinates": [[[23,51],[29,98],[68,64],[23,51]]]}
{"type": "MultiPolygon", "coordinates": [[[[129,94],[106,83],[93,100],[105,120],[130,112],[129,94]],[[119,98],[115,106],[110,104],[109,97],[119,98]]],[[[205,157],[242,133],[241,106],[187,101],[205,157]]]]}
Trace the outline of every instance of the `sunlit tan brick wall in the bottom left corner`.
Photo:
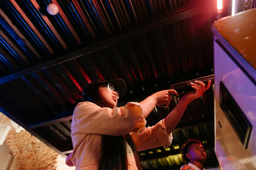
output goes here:
{"type": "MultiPolygon", "coordinates": [[[[0,123],[11,126],[10,119],[0,112],[0,123]]],[[[5,143],[17,161],[18,170],[73,170],[65,164],[65,158],[27,131],[9,131],[5,143]]]]}

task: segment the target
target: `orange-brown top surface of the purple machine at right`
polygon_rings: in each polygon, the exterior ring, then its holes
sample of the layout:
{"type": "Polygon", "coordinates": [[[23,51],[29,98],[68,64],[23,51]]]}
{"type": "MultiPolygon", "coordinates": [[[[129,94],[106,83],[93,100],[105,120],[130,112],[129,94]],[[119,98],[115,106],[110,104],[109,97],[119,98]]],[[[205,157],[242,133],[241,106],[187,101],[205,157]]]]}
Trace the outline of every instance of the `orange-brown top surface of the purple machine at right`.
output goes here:
{"type": "Polygon", "coordinates": [[[256,70],[256,9],[215,21],[213,29],[256,70]]]}

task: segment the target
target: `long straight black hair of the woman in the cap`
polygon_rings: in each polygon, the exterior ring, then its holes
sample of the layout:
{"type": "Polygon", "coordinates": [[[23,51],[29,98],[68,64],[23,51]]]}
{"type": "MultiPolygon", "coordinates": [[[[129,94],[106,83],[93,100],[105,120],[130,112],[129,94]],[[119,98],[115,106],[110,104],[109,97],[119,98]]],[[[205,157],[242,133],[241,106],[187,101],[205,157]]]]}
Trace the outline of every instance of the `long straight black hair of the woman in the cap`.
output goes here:
{"type": "MultiPolygon", "coordinates": [[[[99,94],[99,87],[102,85],[106,84],[91,86],[83,96],[83,100],[100,107],[111,107],[102,102],[99,94]]],[[[126,142],[132,149],[138,170],[142,170],[140,157],[130,134],[124,136],[102,135],[98,170],[128,170],[126,142]]]]}

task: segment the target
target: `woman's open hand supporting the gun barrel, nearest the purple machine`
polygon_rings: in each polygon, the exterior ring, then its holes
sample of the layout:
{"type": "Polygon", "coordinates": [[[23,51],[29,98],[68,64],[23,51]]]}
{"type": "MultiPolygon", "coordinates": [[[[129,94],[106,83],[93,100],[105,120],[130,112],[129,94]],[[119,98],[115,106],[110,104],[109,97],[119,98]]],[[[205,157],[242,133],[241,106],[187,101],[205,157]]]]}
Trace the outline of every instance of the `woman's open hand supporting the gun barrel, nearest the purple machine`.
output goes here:
{"type": "Polygon", "coordinates": [[[201,81],[195,81],[195,83],[190,83],[192,85],[191,87],[195,90],[192,90],[185,95],[185,97],[191,101],[197,99],[198,97],[201,97],[204,91],[208,90],[212,85],[211,80],[208,81],[207,86],[205,86],[205,84],[201,81]]]}

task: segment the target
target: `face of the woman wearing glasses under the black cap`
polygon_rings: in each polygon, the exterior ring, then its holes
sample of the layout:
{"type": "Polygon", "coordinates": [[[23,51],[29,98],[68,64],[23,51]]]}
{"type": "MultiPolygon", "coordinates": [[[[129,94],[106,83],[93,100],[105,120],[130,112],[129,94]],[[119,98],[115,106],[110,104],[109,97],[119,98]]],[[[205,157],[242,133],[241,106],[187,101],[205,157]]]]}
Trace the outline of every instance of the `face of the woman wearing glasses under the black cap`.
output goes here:
{"type": "Polygon", "coordinates": [[[103,85],[99,87],[99,94],[103,103],[107,103],[111,106],[111,108],[115,108],[117,105],[117,93],[110,92],[108,89],[108,85],[103,85]]]}

